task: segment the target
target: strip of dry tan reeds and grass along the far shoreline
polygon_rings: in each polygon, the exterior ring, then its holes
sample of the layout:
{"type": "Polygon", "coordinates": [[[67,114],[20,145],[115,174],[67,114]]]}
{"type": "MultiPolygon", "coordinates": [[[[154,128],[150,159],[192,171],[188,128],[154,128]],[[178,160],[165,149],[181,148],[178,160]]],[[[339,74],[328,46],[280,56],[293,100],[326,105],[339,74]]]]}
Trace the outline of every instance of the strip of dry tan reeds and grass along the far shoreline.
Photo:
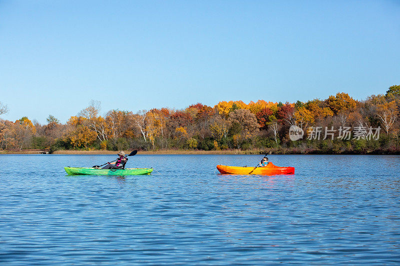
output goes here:
{"type": "MultiPolygon", "coordinates": [[[[0,151],[0,155],[6,154],[26,154],[26,155],[43,155],[39,153],[40,150],[21,150],[21,151],[0,151]]],[[[129,154],[131,151],[124,151],[129,154]]],[[[116,154],[117,151],[107,150],[57,150],[51,154],[55,155],[109,155],[116,154]]],[[[142,155],[400,155],[397,152],[382,152],[373,151],[369,153],[332,153],[314,150],[312,152],[302,153],[298,150],[215,150],[215,151],[204,151],[204,150],[157,150],[157,151],[138,151],[138,154],[142,155]]]]}

